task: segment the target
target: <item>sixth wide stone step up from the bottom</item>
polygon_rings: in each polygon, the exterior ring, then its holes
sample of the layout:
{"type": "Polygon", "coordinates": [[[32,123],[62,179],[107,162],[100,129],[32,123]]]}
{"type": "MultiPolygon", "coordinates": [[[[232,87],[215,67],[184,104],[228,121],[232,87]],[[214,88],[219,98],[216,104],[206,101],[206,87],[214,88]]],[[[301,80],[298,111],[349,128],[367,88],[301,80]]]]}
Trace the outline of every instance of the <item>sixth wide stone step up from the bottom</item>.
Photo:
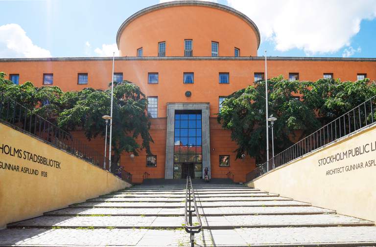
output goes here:
{"type": "MultiPolygon", "coordinates": [[[[278,194],[274,193],[223,193],[223,194],[208,194],[208,193],[200,193],[200,194],[195,194],[196,197],[199,198],[206,198],[206,197],[253,197],[253,196],[279,196],[278,194]]],[[[153,198],[153,197],[168,197],[168,198],[186,198],[186,194],[126,194],[126,193],[121,193],[121,194],[107,194],[103,195],[100,197],[126,197],[126,198],[153,198]]]]}

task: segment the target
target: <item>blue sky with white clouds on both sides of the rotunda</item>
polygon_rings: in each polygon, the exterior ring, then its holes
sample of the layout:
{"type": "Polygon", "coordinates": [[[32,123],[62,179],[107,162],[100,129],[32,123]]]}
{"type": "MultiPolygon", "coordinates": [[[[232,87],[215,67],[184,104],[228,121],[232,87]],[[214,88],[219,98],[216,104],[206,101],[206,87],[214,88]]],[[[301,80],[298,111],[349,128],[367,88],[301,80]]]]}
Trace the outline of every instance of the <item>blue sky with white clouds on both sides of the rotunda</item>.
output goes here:
{"type": "MultiPolygon", "coordinates": [[[[308,8],[306,3],[310,0],[293,5],[291,1],[218,0],[256,22],[262,38],[259,56],[266,49],[268,56],[376,57],[375,0],[347,4],[342,0],[312,0],[308,8]],[[322,13],[323,7],[336,11],[322,13]],[[265,8],[269,10],[267,15],[262,14],[265,8]],[[292,12],[286,13],[283,8],[292,12]]],[[[0,58],[105,56],[108,51],[103,45],[116,42],[120,24],[133,13],[157,3],[158,0],[0,0],[0,58]],[[5,26],[11,23],[21,29],[5,26]]]]}

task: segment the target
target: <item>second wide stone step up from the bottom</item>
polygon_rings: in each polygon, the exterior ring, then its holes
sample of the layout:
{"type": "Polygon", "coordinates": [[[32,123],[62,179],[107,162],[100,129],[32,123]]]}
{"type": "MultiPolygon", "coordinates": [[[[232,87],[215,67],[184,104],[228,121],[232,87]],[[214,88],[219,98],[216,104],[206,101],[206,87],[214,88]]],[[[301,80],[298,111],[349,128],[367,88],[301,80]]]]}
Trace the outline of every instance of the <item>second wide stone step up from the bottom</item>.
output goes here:
{"type": "MultiPolygon", "coordinates": [[[[193,224],[197,222],[193,218],[193,224]]],[[[182,227],[183,216],[41,216],[8,225],[8,227],[182,227]]],[[[374,226],[373,222],[337,214],[316,215],[242,215],[205,216],[204,228],[229,229],[233,227],[282,227],[282,226],[374,226]]]]}

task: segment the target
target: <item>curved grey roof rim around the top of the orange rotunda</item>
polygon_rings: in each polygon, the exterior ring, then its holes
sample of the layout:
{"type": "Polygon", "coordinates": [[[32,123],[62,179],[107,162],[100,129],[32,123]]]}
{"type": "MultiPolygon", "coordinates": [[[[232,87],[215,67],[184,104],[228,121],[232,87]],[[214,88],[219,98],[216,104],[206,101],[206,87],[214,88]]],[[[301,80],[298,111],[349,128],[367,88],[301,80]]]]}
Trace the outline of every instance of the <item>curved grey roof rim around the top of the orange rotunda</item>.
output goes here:
{"type": "Polygon", "coordinates": [[[231,8],[229,6],[226,6],[226,5],[223,5],[223,4],[219,4],[219,3],[216,3],[216,2],[197,1],[197,0],[185,0],[185,1],[170,1],[170,2],[163,2],[163,3],[155,4],[155,5],[149,6],[147,8],[141,9],[140,11],[138,11],[135,14],[131,15],[130,17],[128,17],[127,20],[125,20],[120,25],[118,33],[116,34],[116,43],[118,45],[118,49],[120,49],[119,48],[119,42],[120,42],[121,33],[123,32],[124,28],[130,22],[132,22],[136,18],[138,18],[138,17],[140,17],[140,16],[142,16],[142,15],[144,15],[146,13],[152,12],[154,10],[168,8],[168,7],[174,7],[174,6],[205,6],[205,7],[211,7],[211,8],[216,8],[216,9],[224,10],[224,11],[229,12],[229,13],[235,15],[235,16],[238,16],[243,21],[247,22],[252,27],[252,29],[255,31],[256,37],[257,37],[257,48],[260,46],[261,36],[260,36],[260,32],[258,31],[257,25],[248,16],[244,15],[240,11],[237,11],[234,8],[231,8]]]}

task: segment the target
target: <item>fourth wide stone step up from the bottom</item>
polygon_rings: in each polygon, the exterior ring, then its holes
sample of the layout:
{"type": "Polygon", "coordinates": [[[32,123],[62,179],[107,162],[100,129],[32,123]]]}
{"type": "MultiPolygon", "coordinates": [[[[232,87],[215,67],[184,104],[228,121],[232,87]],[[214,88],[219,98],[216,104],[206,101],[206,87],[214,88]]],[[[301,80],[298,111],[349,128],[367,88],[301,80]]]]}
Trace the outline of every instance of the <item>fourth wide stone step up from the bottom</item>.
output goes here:
{"type": "MultiPolygon", "coordinates": [[[[174,207],[184,207],[185,202],[180,203],[115,203],[115,202],[85,202],[71,205],[72,207],[134,207],[134,208],[154,208],[154,207],[164,207],[164,208],[174,208],[174,207]]],[[[233,206],[311,206],[308,203],[298,202],[298,201],[251,201],[251,202],[197,202],[198,207],[233,207],[233,206]]]]}

